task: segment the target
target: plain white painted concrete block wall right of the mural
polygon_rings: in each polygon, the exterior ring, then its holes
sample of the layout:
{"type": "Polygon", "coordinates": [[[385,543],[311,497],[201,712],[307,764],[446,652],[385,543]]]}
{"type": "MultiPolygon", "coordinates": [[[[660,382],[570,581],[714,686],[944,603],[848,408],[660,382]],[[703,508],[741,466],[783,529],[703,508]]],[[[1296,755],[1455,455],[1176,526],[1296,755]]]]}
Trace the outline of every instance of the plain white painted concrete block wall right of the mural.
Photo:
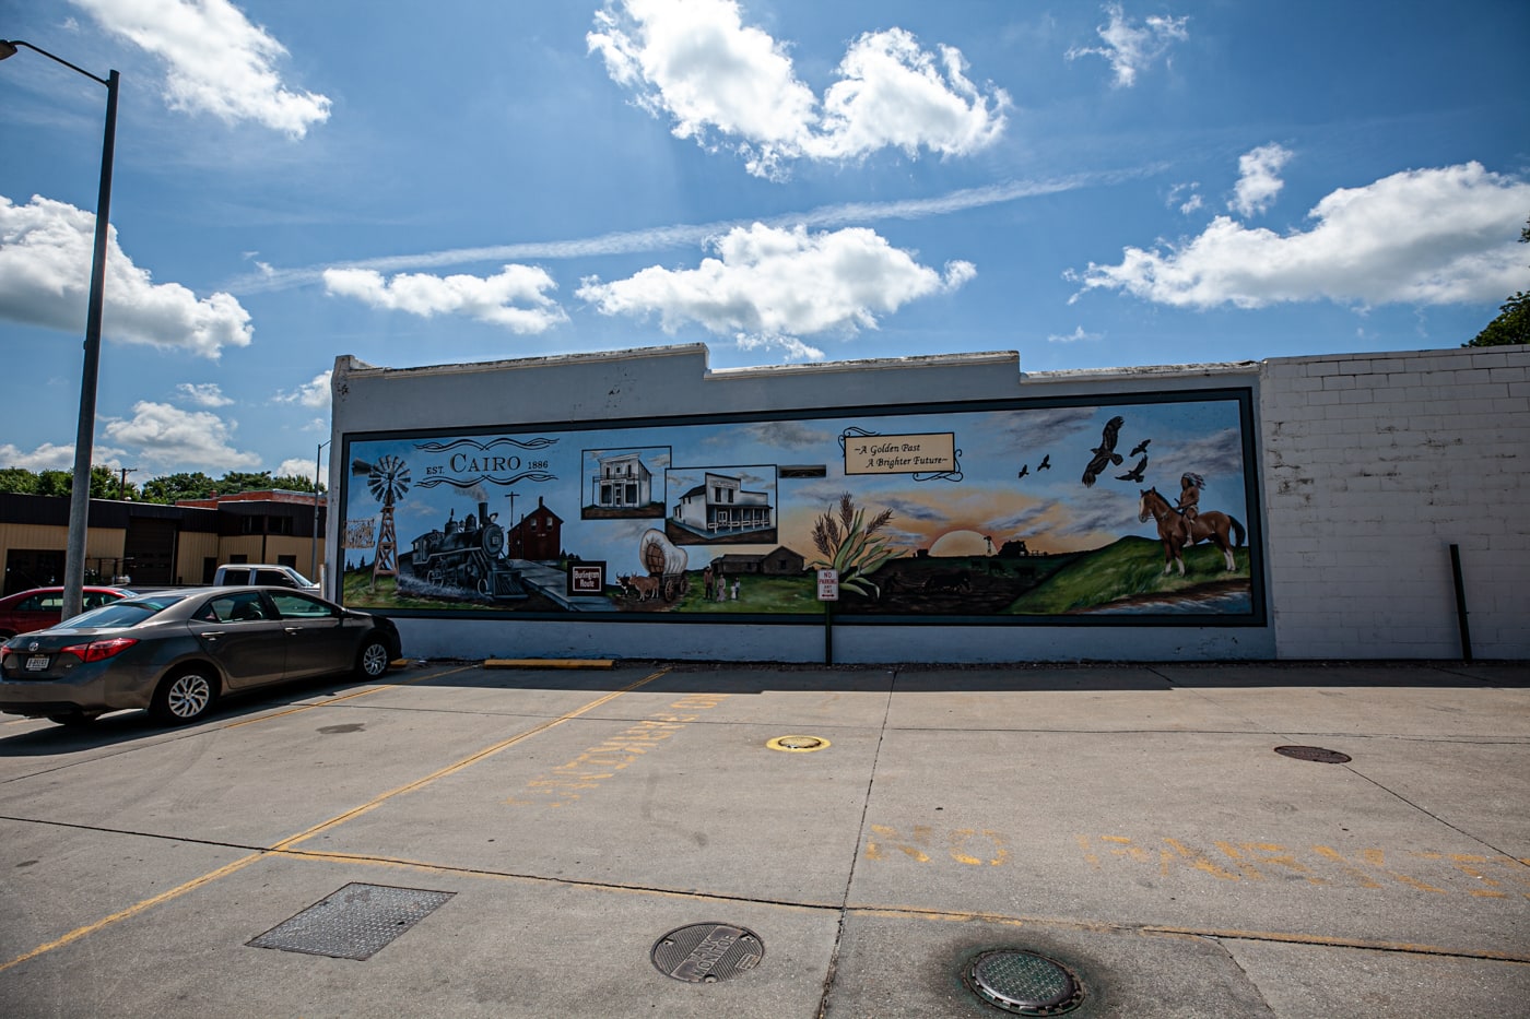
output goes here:
{"type": "Polygon", "coordinates": [[[1530,347],[1265,361],[1281,658],[1530,658],[1530,347]]]}

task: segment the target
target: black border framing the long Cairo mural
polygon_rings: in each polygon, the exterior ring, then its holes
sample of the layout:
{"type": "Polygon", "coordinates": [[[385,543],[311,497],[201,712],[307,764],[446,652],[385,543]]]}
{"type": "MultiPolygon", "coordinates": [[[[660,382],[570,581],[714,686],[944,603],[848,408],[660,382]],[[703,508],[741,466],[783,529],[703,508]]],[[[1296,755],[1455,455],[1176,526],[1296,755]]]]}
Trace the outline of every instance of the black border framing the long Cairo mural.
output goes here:
{"type": "MultiPolygon", "coordinates": [[[[392,428],[372,431],[352,431],[340,438],[341,464],[350,462],[350,447],[355,442],[378,442],[399,439],[430,439],[439,436],[479,436],[479,435],[516,435],[525,431],[597,431],[603,428],[653,428],[653,427],[685,427],[705,424],[741,424],[759,421],[811,421],[815,418],[842,418],[857,413],[875,416],[894,415],[927,415],[927,413],[973,413],[991,410],[1037,410],[1051,407],[1134,407],[1143,404],[1172,404],[1187,399],[1215,401],[1230,399],[1238,404],[1238,424],[1242,439],[1242,461],[1248,465],[1244,471],[1244,499],[1250,508],[1247,520],[1247,548],[1255,554],[1248,557],[1250,610],[1239,614],[1218,615],[1184,615],[1175,612],[1140,612],[1140,614],[1102,614],[1102,615],[895,615],[895,617],[861,617],[835,615],[834,626],[981,626],[981,627],[1178,627],[1178,629],[1264,629],[1270,626],[1268,604],[1265,598],[1265,543],[1264,543],[1264,500],[1259,487],[1262,465],[1258,456],[1258,439],[1255,435],[1255,386],[1250,379],[1247,386],[1183,386],[1178,389],[1155,389],[1143,392],[1100,393],[1100,395],[1068,395],[1068,396],[998,396],[981,399],[955,401],[920,401],[894,404],[849,404],[832,407],[799,407],[782,410],[757,412],[724,412],[704,415],[655,415],[646,418],[598,418],[584,421],[539,421],[539,422],[505,422],[496,425],[459,425],[441,428],[392,428]]],[[[350,473],[340,473],[340,499],[332,510],[335,520],[344,526],[343,510],[350,497],[350,473]]],[[[343,577],[343,571],[335,571],[338,560],[344,557],[343,549],[326,549],[326,568],[330,575],[343,577]],[[338,554],[335,557],[334,554],[338,554]]],[[[343,597],[343,592],[341,592],[343,597]]],[[[422,609],[367,609],[390,618],[410,620],[473,620],[482,623],[638,623],[638,624],[672,624],[672,626],[817,626],[822,624],[822,614],[728,614],[728,615],[675,615],[669,612],[623,612],[615,618],[580,615],[569,618],[563,612],[496,612],[493,609],[476,609],[471,612],[454,610],[422,610],[422,609]]]]}

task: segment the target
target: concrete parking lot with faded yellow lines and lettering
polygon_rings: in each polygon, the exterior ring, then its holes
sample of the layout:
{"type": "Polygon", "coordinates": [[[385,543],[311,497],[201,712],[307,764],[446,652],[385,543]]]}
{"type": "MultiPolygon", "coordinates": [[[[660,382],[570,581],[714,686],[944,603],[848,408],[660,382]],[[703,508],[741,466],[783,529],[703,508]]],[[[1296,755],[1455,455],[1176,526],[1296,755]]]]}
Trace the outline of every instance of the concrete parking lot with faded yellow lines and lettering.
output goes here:
{"type": "Polygon", "coordinates": [[[6,716],[0,1014],[1530,1014],[1524,664],[554,664],[6,716]]]}

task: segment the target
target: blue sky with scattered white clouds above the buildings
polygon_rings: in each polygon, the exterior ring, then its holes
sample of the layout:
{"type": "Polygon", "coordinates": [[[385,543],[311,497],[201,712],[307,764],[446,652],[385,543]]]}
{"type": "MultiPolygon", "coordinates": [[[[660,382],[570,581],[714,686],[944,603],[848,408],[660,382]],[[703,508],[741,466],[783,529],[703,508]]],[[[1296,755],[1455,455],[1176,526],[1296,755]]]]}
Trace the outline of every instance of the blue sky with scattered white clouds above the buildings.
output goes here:
{"type": "MultiPolygon", "coordinates": [[[[1513,0],[0,0],[0,38],[121,72],[93,459],[135,483],[311,477],[337,355],[1196,364],[1457,347],[1530,289],[1513,0]]],[[[104,110],[0,64],[0,467],[73,462],[104,110]]]]}

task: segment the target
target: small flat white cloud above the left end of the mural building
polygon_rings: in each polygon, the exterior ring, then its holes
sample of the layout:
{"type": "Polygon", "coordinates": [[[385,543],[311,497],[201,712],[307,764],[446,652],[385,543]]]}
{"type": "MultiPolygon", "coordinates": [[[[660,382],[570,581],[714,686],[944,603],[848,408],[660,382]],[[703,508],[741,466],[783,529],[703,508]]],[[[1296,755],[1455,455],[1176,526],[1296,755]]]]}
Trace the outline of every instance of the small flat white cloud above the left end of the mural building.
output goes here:
{"type": "Polygon", "coordinates": [[[372,269],[324,269],[324,288],[373,308],[422,318],[467,315],[519,334],[546,332],[568,321],[568,314],[543,292],[557,289],[557,283],[546,269],[528,265],[506,265],[491,277],[401,272],[392,280],[372,269]]]}

